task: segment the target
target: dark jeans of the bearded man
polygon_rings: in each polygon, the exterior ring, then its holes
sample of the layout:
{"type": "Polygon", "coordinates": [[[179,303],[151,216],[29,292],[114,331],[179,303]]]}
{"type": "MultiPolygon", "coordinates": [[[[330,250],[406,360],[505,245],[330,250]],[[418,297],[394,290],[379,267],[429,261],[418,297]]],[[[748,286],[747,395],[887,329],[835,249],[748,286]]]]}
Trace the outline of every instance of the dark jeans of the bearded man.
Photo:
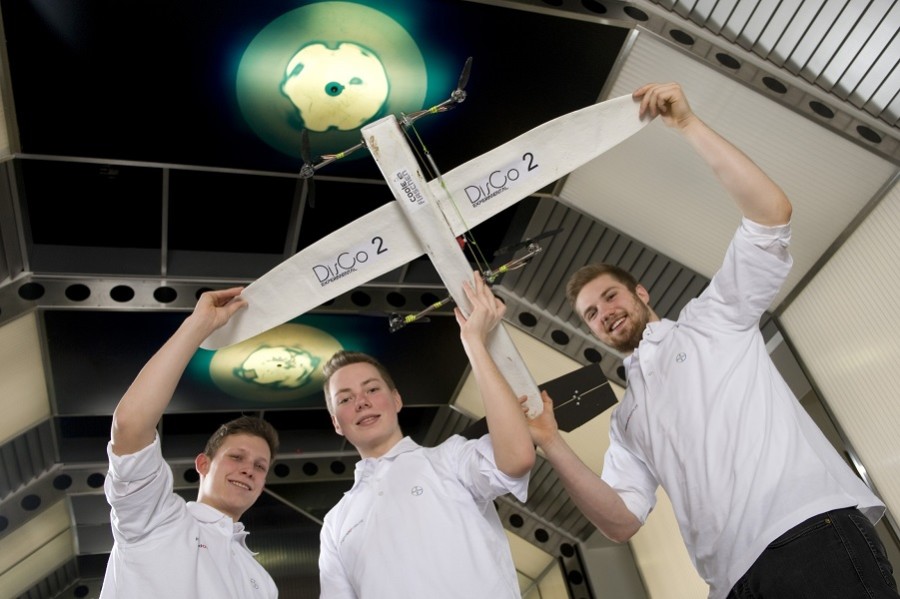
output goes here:
{"type": "Polygon", "coordinates": [[[893,572],[868,518],[832,510],[775,539],[728,599],[897,599],[893,572]]]}

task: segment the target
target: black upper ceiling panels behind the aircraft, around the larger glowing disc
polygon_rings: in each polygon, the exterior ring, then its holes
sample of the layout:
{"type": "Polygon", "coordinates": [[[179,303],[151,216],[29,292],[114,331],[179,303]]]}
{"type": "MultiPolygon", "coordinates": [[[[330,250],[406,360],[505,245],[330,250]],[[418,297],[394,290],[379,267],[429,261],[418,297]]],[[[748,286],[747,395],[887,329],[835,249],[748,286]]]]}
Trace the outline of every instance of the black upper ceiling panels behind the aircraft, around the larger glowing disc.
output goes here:
{"type": "MultiPolygon", "coordinates": [[[[428,10],[369,4],[414,32],[429,65],[419,83],[424,104],[400,104],[397,112],[446,99],[473,59],[466,102],[416,125],[442,171],[594,103],[626,34],[472,2],[430,2],[428,10]],[[541,37],[554,43],[519,43],[541,37]]],[[[300,126],[288,122],[293,143],[274,147],[238,103],[241,51],[268,23],[304,8],[226,2],[211,17],[208,4],[194,2],[5,2],[32,269],[70,272],[73,262],[84,269],[75,248],[103,247],[127,252],[121,263],[107,262],[104,274],[159,274],[165,252],[171,277],[256,277],[260,267],[391,201],[376,164],[360,151],[320,169],[315,208],[292,218],[300,210],[300,126]],[[51,57],[52,76],[38,55],[51,57]],[[54,251],[60,246],[64,256],[54,251]],[[144,250],[143,264],[133,259],[136,250],[144,250]],[[191,259],[197,252],[245,258],[211,273],[207,261],[191,259]]],[[[289,119],[287,98],[279,100],[289,119]]],[[[312,153],[343,151],[348,139],[312,132],[312,153]]],[[[503,232],[479,237],[500,243],[503,232]]]]}

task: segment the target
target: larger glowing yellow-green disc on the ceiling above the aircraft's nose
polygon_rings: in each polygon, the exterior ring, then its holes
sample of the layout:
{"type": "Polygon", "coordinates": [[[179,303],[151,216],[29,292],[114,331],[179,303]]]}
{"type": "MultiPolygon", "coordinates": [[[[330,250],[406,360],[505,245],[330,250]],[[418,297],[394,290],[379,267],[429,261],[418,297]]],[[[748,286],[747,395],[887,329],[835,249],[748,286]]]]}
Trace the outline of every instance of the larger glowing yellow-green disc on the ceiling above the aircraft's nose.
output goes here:
{"type": "Polygon", "coordinates": [[[319,2],[263,28],[244,51],[236,83],[253,131],[300,157],[304,128],[317,133],[310,136],[313,155],[337,153],[360,142],[366,123],[421,109],[427,72],[416,42],[384,13],[319,2]]]}

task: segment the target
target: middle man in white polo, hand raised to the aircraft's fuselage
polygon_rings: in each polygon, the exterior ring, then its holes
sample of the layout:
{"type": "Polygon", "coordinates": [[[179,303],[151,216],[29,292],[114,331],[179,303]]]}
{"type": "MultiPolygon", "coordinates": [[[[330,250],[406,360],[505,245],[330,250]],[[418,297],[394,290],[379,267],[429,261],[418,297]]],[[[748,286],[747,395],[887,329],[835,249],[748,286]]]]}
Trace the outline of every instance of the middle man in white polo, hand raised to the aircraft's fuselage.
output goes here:
{"type": "Polygon", "coordinates": [[[472,312],[457,308],[456,319],[484,402],[480,439],[422,447],[400,429],[400,392],[376,359],[341,351],[324,367],[334,429],[362,459],[322,526],[322,599],[521,597],[493,502],[507,493],[525,501],[534,445],[485,345],[506,307],[477,273],[465,291],[472,312]]]}

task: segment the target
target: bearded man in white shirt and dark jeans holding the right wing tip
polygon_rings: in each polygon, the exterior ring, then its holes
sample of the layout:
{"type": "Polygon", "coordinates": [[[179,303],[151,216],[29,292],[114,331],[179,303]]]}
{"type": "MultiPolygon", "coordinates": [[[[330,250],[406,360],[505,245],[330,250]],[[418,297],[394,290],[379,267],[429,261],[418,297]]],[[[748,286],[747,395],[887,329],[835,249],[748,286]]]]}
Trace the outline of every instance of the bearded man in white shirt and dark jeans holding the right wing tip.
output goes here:
{"type": "Polygon", "coordinates": [[[759,319],[791,267],[791,204],[691,110],[675,83],[634,92],[710,165],[743,214],[721,269],[677,321],[611,265],[569,280],[574,309],[628,354],[600,476],[568,447],[544,397],[535,442],[573,501],[610,539],[643,525],[662,486],[711,599],[896,598],[873,524],[884,504],[792,394],[759,319]]]}

